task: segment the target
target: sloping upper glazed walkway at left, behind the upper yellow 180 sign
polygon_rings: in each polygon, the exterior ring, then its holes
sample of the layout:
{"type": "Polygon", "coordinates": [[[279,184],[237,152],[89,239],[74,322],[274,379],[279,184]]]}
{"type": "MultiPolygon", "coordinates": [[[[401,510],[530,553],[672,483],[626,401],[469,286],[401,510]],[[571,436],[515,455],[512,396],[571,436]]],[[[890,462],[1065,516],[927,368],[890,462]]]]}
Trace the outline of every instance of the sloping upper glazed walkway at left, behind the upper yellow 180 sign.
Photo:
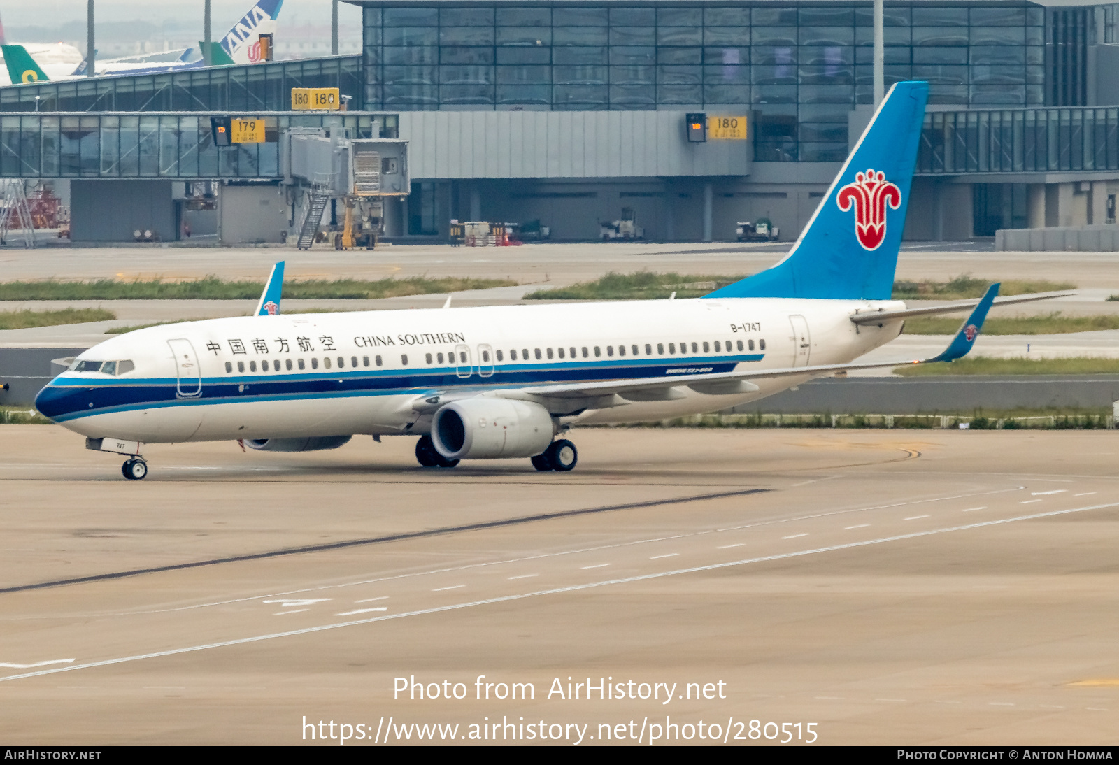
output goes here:
{"type": "Polygon", "coordinates": [[[333,56],[0,87],[0,112],[279,112],[293,87],[337,87],[363,108],[361,58],[333,56]],[[38,102],[36,102],[38,97],[38,102]]]}

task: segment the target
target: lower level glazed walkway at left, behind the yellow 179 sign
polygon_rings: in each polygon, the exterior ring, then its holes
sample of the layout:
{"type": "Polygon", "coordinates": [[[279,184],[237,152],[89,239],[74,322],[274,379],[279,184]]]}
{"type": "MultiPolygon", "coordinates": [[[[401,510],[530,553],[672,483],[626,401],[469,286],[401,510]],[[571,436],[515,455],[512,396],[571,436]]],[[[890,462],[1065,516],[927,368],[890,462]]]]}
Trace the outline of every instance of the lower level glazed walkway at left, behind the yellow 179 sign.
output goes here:
{"type": "MultiPolygon", "coordinates": [[[[222,115],[227,115],[223,112],[222,115]]],[[[264,143],[214,145],[211,114],[2,114],[3,178],[280,178],[279,131],[339,124],[354,138],[396,138],[395,114],[252,114],[264,143]]]]}

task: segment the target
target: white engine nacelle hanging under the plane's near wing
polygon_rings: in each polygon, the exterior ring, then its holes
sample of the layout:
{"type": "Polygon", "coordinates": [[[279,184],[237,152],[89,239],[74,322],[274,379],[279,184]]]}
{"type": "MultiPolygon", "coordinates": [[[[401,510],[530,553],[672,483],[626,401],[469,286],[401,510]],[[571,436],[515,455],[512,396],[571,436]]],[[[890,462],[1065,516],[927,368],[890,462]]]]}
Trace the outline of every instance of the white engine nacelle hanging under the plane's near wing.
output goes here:
{"type": "Polygon", "coordinates": [[[467,398],[441,407],[431,440],[448,460],[535,456],[552,443],[555,424],[539,404],[467,398]]]}

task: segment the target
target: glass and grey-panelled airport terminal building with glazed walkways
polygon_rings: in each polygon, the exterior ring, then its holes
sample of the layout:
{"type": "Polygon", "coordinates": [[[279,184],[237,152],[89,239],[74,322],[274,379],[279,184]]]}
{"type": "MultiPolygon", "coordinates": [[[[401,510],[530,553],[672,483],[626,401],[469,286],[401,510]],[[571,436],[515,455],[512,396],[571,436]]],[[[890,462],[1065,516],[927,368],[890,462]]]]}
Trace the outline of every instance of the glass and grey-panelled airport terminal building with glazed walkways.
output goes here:
{"type": "MultiPolygon", "coordinates": [[[[389,236],[538,219],[553,238],[592,239],[629,209],[651,239],[730,239],[759,219],[790,239],[873,108],[869,1],[347,1],[363,8],[359,57],[0,88],[0,174],[88,178],[75,210],[111,178],[280,183],[278,161],[206,145],[206,113],[322,124],[286,111],[290,88],[336,86],[356,134],[410,142],[411,193],[386,209],[389,236]],[[689,140],[696,115],[705,141],[689,140]],[[721,134],[716,119],[745,130],[721,134]],[[126,153],[126,133],[134,176],[103,159],[106,145],[126,153]],[[43,157],[27,161],[36,143],[43,157]],[[154,169],[142,172],[145,147],[154,169]],[[189,158],[207,151],[213,169],[189,158]]],[[[931,87],[909,238],[1115,224],[1117,9],[886,0],[886,86],[931,87]]]]}

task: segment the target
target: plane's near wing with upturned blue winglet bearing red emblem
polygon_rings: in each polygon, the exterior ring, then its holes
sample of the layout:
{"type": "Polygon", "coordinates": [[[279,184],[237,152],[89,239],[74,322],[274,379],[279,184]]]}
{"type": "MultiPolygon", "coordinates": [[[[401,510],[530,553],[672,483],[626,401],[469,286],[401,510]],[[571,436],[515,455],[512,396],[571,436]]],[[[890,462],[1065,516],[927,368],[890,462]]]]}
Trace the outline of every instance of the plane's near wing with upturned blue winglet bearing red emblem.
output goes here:
{"type": "MultiPolygon", "coordinates": [[[[987,318],[987,311],[998,294],[998,284],[991,284],[976,305],[971,314],[960,325],[948,347],[939,355],[928,359],[903,359],[899,361],[878,361],[874,363],[829,363],[814,367],[782,367],[777,369],[743,369],[730,372],[709,375],[674,375],[671,377],[646,377],[629,380],[604,380],[595,382],[570,382],[558,385],[539,385],[525,388],[510,388],[497,391],[496,395],[508,398],[552,399],[549,408],[564,410],[572,404],[585,404],[584,408],[604,408],[618,406],[628,402],[671,400],[683,398],[684,391],[678,388],[686,386],[697,393],[708,395],[734,395],[758,390],[751,380],[773,379],[780,377],[818,377],[829,372],[848,371],[853,369],[881,369],[884,367],[901,367],[908,363],[931,363],[933,361],[952,361],[962,358],[971,350],[979,330],[987,318]],[[624,399],[624,400],[619,400],[624,399]]],[[[574,410],[577,407],[570,407],[574,410]]]]}

